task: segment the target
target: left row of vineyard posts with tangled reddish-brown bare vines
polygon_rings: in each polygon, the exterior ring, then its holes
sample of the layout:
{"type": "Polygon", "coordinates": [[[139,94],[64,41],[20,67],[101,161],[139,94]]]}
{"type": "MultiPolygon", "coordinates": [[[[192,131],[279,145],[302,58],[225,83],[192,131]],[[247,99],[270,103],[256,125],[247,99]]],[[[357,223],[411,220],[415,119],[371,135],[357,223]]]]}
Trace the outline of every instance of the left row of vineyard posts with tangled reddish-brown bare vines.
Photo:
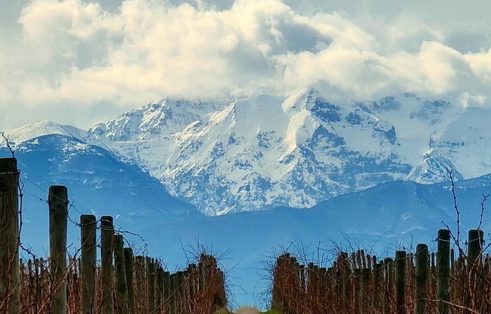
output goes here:
{"type": "Polygon", "coordinates": [[[68,257],[68,191],[60,185],[48,195],[50,256],[29,253],[32,259],[22,261],[18,180],[16,159],[1,158],[0,313],[211,314],[226,307],[224,273],[215,257],[203,252],[198,264],[170,273],[158,260],[123,248],[111,216],[97,221],[81,215],[80,257],[68,257]]]}

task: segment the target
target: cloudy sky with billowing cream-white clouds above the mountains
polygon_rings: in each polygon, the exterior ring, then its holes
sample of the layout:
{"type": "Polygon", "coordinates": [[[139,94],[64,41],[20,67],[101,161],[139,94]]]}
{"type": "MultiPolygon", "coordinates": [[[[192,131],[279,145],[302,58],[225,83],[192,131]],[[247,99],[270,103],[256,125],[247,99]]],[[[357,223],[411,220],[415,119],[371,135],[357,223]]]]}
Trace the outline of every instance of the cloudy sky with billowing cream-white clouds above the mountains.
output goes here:
{"type": "Polygon", "coordinates": [[[0,129],[318,87],[491,104],[488,0],[0,0],[0,129]]]}

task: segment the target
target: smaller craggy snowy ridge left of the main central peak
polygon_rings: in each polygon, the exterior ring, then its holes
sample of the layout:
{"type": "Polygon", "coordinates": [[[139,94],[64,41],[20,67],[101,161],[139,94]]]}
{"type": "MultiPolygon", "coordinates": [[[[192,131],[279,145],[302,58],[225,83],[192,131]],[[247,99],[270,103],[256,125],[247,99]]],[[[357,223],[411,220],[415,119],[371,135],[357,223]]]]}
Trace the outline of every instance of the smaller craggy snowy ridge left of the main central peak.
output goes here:
{"type": "Polygon", "coordinates": [[[174,134],[205,115],[222,110],[227,104],[223,99],[165,98],[123,113],[107,123],[97,124],[88,132],[109,139],[108,145],[113,152],[159,178],[173,148],[174,134]]]}

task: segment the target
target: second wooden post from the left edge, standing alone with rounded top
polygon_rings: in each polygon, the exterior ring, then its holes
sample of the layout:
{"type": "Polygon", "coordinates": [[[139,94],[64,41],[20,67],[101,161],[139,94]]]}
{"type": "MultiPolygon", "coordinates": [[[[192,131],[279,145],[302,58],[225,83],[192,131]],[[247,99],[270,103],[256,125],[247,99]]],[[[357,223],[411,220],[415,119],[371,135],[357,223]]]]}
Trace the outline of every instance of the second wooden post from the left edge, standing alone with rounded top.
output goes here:
{"type": "Polygon", "coordinates": [[[67,313],[67,227],[68,191],[62,185],[50,186],[50,276],[53,297],[51,313],[67,313]]]}

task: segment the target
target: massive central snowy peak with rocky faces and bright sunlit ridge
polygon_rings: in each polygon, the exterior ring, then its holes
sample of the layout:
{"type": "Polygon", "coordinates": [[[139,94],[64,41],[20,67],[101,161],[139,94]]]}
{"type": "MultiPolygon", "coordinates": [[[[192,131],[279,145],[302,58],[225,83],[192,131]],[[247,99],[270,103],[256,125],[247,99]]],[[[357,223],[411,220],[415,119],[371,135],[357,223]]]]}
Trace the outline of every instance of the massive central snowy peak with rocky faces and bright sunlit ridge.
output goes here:
{"type": "Polygon", "coordinates": [[[394,126],[357,104],[336,106],[314,90],[258,95],[176,134],[165,173],[154,174],[208,215],[310,207],[404,178],[411,166],[397,145],[394,126]]]}

